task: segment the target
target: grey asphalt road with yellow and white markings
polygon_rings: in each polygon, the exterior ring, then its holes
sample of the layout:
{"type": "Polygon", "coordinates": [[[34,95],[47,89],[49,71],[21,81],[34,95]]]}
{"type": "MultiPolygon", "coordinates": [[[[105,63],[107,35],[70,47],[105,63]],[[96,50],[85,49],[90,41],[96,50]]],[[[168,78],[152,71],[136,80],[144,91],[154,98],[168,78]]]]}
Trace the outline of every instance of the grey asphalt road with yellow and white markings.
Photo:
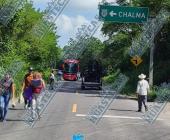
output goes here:
{"type": "Polygon", "coordinates": [[[113,101],[100,122],[85,118],[90,107],[101,99],[99,90],[82,91],[80,82],[64,82],[33,128],[23,122],[23,104],[9,110],[0,123],[0,140],[72,140],[77,133],[85,140],[170,140],[170,107],[166,106],[154,124],[136,112],[137,102],[127,98],[113,101]]]}

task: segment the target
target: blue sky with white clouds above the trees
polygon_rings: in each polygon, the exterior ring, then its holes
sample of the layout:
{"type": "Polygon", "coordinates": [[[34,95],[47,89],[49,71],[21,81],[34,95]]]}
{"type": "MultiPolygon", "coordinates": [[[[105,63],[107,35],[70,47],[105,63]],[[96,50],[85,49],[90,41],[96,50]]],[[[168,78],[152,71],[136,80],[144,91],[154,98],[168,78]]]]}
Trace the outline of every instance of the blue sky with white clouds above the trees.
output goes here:
{"type": "MultiPolygon", "coordinates": [[[[48,2],[51,0],[33,0],[34,7],[40,10],[45,10],[48,2]]],[[[59,38],[59,46],[64,47],[69,38],[75,38],[77,28],[82,24],[88,24],[92,21],[96,14],[98,14],[98,3],[101,0],[70,0],[59,18],[56,20],[57,35],[59,38]]],[[[107,0],[107,2],[115,2],[115,0],[107,0]]],[[[94,37],[101,41],[106,40],[107,37],[102,35],[101,27],[95,33],[94,37]]]]}

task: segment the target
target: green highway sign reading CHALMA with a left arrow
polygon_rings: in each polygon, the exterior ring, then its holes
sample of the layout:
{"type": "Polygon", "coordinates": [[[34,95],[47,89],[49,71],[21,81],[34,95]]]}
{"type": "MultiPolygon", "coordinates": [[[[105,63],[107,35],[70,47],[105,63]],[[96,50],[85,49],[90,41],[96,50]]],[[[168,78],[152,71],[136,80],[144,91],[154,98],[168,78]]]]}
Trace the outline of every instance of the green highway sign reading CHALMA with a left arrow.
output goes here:
{"type": "Polygon", "coordinates": [[[149,8],[99,5],[99,19],[111,22],[144,23],[147,22],[149,8]]]}

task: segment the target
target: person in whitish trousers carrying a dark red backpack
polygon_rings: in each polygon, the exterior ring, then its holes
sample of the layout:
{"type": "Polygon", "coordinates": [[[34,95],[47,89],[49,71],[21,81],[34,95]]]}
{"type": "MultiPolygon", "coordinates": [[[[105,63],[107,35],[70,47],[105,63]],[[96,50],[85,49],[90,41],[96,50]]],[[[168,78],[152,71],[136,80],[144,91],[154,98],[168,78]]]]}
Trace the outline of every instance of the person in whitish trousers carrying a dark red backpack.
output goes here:
{"type": "Polygon", "coordinates": [[[31,80],[31,86],[33,90],[33,100],[32,100],[32,115],[33,119],[35,118],[35,113],[38,114],[38,118],[40,119],[39,114],[39,105],[41,101],[41,91],[45,89],[45,82],[42,79],[42,75],[39,72],[34,72],[33,79],[31,80]]]}

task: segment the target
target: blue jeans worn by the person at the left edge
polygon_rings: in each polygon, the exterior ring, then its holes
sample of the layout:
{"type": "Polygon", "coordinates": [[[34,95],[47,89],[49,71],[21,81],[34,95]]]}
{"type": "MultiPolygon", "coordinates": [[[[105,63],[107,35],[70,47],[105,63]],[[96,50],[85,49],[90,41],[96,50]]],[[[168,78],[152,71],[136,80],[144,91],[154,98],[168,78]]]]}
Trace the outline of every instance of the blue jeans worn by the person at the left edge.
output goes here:
{"type": "Polygon", "coordinates": [[[0,96],[0,119],[5,120],[8,112],[10,93],[0,96]]]}

